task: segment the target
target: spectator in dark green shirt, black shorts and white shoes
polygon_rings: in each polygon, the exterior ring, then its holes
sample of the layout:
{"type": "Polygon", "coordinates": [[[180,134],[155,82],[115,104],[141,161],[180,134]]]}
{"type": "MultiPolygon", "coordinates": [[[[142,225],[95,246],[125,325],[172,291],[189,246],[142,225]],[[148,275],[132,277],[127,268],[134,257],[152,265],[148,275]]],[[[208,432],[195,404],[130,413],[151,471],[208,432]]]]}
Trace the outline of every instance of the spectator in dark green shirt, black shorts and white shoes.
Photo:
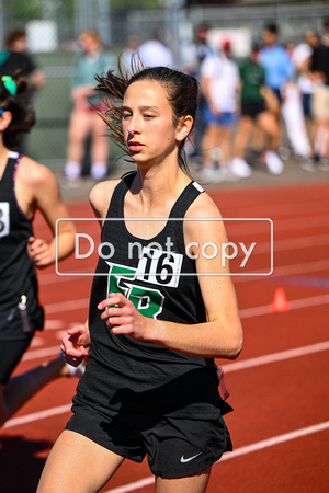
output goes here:
{"type": "MultiPolygon", "coordinates": [[[[271,89],[264,85],[265,70],[258,64],[259,45],[253,44],[250,57],[240,65],[241,79],[241,116],[238,124],[231,171],[240,177],[248,177],[252,173],[246,162],[246,149],[253,128],[261,128],[266,136],[268,145],[262,160],[272,174],[283,171],[283,163],[276,151],[279,147],[280,128],[277,118],[269,111],[266,101],[273,100],[271,89]]],[[[270,103],[269,103],[270,104],[270,103]]]]}

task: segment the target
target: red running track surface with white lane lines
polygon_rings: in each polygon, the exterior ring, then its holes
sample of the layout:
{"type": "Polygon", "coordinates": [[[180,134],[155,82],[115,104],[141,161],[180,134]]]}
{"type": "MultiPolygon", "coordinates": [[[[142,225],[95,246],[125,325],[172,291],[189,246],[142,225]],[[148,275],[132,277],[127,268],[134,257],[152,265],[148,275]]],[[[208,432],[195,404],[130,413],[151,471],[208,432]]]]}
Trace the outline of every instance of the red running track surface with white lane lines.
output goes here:
{"type": "MultiPolygon", "coordinates": [[[[235,408],[226,416],[235,451],[213,467],[208,492],[327,492],[329,187],[309,184],[209,193],[224,218],[273,220],[274,272],[234,278],[245,348],[238,360],[218,363],[226,370],[229,403],[235,408]],[[287,311],[271,310],[277,288],[284,289],[287,311]]],[[[87,202],[69,208],[73,217],[91,217],[87,202]]],[[[257,241],[248,268],[263,272],[270,260],[270,230],[259,225],[227,222],[227,230],[230,241],[257,241]]],[[[39,217],[36,232],[47,234],[39,217]]],[[[71,268],[71,262],[66,260],[60,268],[71,268]]],[[[39,279],[46,330],[36,334],[16,372],[56,356],[63,333],[88,312],[91,277],[59,277],[47,268],[39,279]]],[[[35,491],[49,449],[70,415],[76,385],[76,379],[68,378],[52,382],[0,432],[2,493],[35,491]]],[[[125,461],[102,491],[151,492],[147,462],[125,461]]]]}

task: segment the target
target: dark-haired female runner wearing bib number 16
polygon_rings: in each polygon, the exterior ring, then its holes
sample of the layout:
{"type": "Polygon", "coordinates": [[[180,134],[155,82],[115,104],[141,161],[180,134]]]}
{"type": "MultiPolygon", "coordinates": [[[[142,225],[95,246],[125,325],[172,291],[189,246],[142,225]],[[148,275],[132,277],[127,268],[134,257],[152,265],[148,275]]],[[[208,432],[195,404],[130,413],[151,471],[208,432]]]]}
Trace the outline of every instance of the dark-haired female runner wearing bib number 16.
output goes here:
{"type": "Polygon", "coordinates": [[[198,85],[163,67],[97,79],[122,101],[103,117],[137,171],[90,195],[104,254],[89,322],[63,341],[87,369],[37,492],[97,492],[146,455],[156,492],[204,492],[231,450],[214,358],[236,358],[242,330],[228,267],[207,248],[226,241],[220,214],[184,160],[198,85]]]}

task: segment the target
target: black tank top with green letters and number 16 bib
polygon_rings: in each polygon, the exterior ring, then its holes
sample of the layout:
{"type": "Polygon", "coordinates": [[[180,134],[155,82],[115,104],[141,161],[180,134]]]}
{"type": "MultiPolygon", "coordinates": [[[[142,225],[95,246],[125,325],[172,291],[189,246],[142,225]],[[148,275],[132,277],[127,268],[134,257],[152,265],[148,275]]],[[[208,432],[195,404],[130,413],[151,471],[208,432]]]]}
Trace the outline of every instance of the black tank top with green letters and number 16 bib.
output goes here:
{"type": "Polygon", "coordinates": [[[203,188],[191,182],[175,202],[164,228],[145,240],[132,236],[122,220],[125,195],[134,177],[135,173],[126,176],[115,187],[109,220],[102,228],[102,244],[111,243],[109,254],[113,256],[98,262],[89,308],[91,352],[73,402],[87,402],[104,414],[110,409],[217,419],[223,401],[213,359],[112,335],[100,318],[98,303],[109,293],[122,291],[140,313],[184,323],[186,331],[191,324],[206,321],[197,277],[179,275],[195,274],[194,261],[185,255],[182,218],[203,188]],[[169,255],[168,238],[172,242],[169,255]],[[141,253],[132,249],[136,243],[140,243],[141,253]]]}

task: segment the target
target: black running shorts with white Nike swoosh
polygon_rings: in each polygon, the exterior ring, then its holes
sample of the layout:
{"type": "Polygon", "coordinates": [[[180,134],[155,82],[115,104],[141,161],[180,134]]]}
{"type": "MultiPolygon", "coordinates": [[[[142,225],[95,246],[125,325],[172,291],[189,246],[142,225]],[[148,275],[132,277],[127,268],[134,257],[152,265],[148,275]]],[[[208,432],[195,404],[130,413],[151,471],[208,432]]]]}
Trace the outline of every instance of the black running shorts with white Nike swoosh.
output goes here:
{"type": "Polygon", "coordinates": [[[161,478],[196,474],[232,450],[223,417],[201,421],[114,413],[109,420],[94,409],[75,405],[66,429],[135,462],[147,455],[151,472],[161,478]]]}

